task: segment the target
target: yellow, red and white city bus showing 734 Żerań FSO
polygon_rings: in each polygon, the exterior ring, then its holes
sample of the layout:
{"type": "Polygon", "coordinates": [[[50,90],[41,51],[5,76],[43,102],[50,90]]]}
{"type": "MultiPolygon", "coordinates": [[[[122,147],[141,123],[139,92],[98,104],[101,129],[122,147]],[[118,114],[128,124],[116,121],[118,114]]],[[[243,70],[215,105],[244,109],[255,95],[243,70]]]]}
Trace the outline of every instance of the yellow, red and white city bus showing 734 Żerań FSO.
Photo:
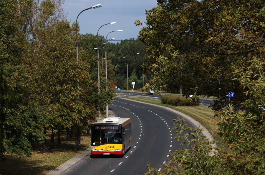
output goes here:
{"type": "Polygon", "coordinates": [[[91,155],[124,155],[131,144],[130,118],[109,117],[91,125],[91,155]]]}

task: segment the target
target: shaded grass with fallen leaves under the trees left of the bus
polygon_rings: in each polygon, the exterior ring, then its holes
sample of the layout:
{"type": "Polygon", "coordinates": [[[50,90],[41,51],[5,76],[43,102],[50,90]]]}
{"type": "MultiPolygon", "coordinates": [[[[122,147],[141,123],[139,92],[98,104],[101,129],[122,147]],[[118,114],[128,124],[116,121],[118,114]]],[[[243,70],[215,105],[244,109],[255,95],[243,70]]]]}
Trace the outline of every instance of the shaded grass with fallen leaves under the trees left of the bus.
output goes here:
{"type": "Polygon", "coordinates": [[[54,149],[49,149],[51,134],[46,136],[46,153],[42,153],[42,147],[32,151],[32,157],[14,157],[4,155],[6,160],[0,162],[1,175],[41,175],[47,174],[67,160],[84,151],[90,145],[90,134],[86,131],[81,135],[81,149],[76,149],[75,138],[67,138],[66,133],[61,134],[61,144],[57,143],[57,135],[54,136],[54,149]]]}

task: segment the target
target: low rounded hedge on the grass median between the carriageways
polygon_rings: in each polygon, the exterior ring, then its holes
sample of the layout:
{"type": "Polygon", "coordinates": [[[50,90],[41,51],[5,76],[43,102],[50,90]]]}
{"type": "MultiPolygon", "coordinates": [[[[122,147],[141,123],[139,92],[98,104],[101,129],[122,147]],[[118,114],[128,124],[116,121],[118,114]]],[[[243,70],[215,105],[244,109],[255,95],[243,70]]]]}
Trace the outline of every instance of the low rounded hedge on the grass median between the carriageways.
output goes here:
{"type": "Polygon", "coordinates": [[[160,99],[162,103],[174,106],[199,106],[201,102],[200,100],[193,102],[191,98],[175,95],[162,95],[160,99]]]}

